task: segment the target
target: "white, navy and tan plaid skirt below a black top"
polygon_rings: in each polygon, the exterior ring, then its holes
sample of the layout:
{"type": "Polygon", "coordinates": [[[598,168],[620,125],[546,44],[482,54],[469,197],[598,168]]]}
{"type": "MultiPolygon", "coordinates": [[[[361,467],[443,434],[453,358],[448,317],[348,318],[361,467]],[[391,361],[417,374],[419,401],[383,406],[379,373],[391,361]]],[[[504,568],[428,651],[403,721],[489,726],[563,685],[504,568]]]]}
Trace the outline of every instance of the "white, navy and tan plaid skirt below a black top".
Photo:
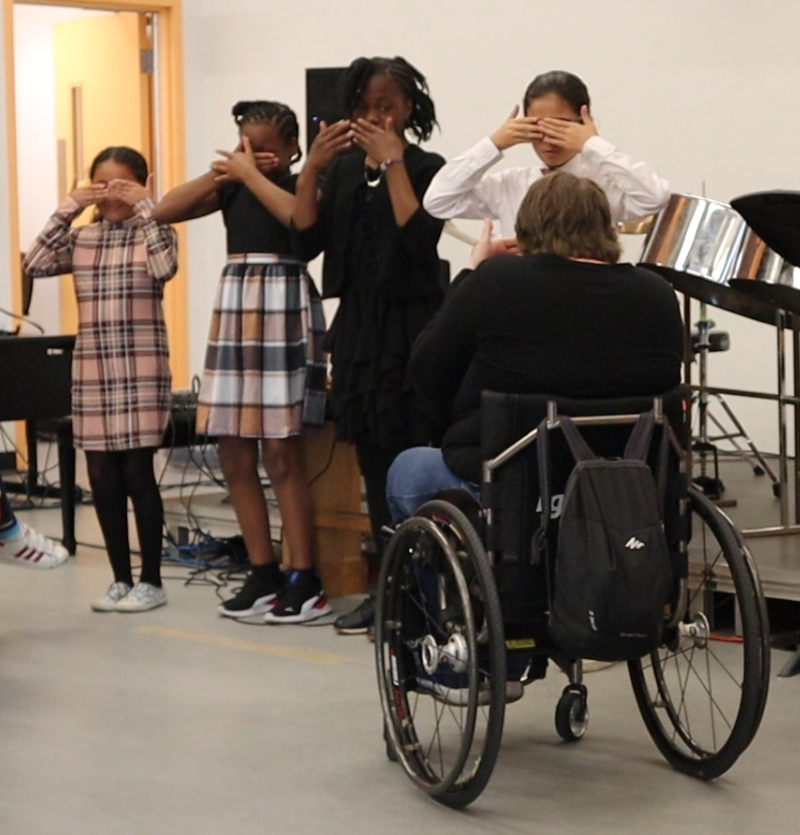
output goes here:
{"type": "Polygon", "coordinates": [[[222,272],[197,401],[197,431],[286,438],[325,416],[325,319],[302,261],[249,253],[222,272]]]}

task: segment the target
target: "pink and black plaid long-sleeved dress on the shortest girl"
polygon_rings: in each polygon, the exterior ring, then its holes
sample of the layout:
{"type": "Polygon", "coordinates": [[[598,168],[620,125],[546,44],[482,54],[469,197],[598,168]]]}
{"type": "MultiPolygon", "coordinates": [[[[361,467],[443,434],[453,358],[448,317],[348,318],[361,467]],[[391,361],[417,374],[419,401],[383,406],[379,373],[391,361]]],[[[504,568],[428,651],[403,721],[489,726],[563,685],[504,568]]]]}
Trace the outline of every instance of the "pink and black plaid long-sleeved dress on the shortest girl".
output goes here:
{"type": "Polygon", "coordinates": [[[72,199],[51,215],[25,256],[36,277],[73,273],[78,335],[72,364],[75,446],[120,451],[160,445],[171,377],[161,308],[177,270],[177,236],[140,200],[128,220],[70,227],[72,199]]]}

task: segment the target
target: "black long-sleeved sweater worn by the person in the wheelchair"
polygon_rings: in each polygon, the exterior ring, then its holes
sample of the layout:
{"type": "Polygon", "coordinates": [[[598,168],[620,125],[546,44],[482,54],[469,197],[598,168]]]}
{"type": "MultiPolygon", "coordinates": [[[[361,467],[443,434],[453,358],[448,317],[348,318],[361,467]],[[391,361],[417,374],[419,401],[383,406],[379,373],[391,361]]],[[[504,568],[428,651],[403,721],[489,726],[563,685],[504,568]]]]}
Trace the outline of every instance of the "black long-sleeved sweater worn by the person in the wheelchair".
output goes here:
{"type": "Polygon", "coordinates": [[[417,339],[410,371],[424,399],[450,406],[447,465],[477,482],[483,390],[656,395],[680,383],[682,358],[678,303],[655,273],[503,255],[457,279],[417,339]]]}

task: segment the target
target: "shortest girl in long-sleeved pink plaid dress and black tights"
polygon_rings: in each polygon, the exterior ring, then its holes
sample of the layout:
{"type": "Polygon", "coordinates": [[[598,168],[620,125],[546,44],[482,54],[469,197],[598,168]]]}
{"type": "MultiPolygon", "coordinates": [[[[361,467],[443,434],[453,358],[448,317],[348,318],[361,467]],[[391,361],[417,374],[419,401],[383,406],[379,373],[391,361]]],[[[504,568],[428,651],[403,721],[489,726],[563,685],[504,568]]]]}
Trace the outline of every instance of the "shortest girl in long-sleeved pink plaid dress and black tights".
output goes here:
{"type": "Polygon", "coordinates": [[[153,219],[147,163],[137,151],[106,148],[91,185],[76,188],[25,256],[32,276],[72,273],[78,335],[72,366],[75,445],[89,483],[114,582],[92,608],[142,612],[167,602],[161,585],[164,508],[153,455],[169,417],[170,372],[161,299],[177,269],[177,238],[153,219]],[[97,219],[71,223],[87,206],[97,219]],[[142,570],[133,584],[128,498],[142,570]]]}

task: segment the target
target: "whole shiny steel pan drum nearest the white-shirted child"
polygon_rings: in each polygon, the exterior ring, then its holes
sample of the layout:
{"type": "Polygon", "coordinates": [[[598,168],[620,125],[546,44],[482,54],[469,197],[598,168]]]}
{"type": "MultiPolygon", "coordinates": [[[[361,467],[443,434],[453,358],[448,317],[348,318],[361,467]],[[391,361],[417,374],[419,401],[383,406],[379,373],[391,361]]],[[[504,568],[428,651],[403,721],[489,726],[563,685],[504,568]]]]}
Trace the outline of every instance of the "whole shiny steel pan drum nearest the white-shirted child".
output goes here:
{"type": "Polygon", "coordinates": [[[773,324],[772,304],[729,284],[747,231],[727,204],[673,194],[645,240],[640,264],[693,298],[773,324]]]}

